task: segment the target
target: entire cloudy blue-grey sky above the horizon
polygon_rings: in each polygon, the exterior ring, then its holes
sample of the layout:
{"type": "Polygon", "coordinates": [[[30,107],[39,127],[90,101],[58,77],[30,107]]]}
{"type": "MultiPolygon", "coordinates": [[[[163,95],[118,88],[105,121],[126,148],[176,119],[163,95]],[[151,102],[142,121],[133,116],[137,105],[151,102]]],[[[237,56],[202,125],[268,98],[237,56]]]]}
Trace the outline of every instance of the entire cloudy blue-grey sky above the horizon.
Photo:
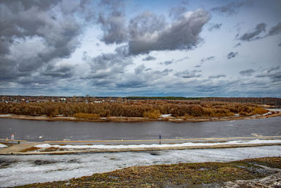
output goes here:
{"type": "Polygon", "coordinates": [[[281,97],[281,1],[1,0],[0,94],[281,97]]]}

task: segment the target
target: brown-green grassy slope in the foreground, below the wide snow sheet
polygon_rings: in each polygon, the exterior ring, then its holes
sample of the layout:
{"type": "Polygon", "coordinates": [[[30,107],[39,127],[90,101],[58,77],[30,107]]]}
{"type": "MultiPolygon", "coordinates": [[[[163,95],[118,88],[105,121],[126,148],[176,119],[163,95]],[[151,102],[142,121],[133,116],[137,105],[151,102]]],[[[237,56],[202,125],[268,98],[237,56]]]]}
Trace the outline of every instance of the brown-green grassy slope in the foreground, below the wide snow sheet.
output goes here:
{"type": "MultiPolygon", "coordinates": [[[[281,157],[254,158],[229,163],[135,166],[67,181],[29,184],[24,187],[221,187],[228,181],[252,180],[273,175],[276,169],[274,172],[272,168],[281,168],[281,157]]],[[[278,178],[279,174],[275,176],[278,178]]],[[[275,180],[275,183],[279,183],[278,180],[275,180]]],[[[242,187],[248,187],[246,182],[240,181],[240,185],[241,183],[242,187]]],[[[251,182],[252,186],[249,187],[266,187],[266,182],[262,183],[251,182]]]]}

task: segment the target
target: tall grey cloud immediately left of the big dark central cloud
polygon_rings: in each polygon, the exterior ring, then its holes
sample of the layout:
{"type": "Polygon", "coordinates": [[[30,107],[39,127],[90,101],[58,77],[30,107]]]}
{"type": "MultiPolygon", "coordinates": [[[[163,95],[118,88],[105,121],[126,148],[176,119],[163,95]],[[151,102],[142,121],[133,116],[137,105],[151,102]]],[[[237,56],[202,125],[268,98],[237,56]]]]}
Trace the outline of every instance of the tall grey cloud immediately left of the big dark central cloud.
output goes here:
{"type": "Polygon", "coordinates": [[[98,16],[98,23],[101,24],[103,30],[103,38],[105,44],[120,44],[127,41],[127,30],[125,26],[124,4],[123,1],[100,1],[100,6],[104,6],[106,10],[110,10],[108,15],[103,11],[98,16]]]}

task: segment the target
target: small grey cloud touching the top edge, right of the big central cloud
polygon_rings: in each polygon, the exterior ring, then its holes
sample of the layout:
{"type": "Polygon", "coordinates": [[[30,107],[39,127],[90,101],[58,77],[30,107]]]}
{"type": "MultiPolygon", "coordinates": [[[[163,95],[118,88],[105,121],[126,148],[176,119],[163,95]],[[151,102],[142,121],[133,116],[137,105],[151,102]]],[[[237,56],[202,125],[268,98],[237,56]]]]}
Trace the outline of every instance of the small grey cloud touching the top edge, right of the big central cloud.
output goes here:
{"type": "Polygon", "coordinates": [[[211,8],[211,11],[220,13],[222,15],[234,15],[238,13],[239,8],[247,4],[249,4],[248,1],[230,2],[225,6],[216,6],[214,8],[211,8]]]}

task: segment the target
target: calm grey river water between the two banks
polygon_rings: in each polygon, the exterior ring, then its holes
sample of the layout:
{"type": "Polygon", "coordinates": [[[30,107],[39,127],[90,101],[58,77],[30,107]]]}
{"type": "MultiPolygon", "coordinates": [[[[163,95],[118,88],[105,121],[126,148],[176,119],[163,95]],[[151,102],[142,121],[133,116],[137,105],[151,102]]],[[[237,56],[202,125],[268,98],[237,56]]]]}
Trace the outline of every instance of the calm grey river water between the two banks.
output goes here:
{"type": "Polygon", "coordinates": [[[29,141],[249,137],[280,135],[281,117],[197,123],[93,123],[0,118],[0,138],[29,141]]]}

